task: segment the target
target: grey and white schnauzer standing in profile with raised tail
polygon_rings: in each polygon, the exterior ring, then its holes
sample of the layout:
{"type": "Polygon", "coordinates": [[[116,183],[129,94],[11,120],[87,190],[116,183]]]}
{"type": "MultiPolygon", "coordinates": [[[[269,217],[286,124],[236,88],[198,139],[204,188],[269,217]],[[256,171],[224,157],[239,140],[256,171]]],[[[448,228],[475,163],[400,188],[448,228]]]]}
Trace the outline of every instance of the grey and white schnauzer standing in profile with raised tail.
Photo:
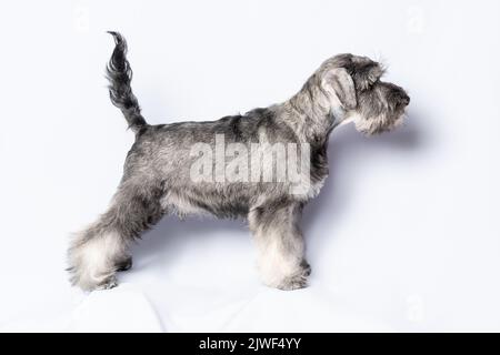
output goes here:
{"type": "MultiPolygon", "coordinates": [[[[318,195],[328,176],[330,132],[348,122],[366,135],[392,130],[401,123],[410,102],[404,90],[380,81],[384,70],[378,62],[339,54],[324,61],[286,102],[217,121],[150,125],[130,88],[127,43],[119,33],[110,33],[116,42],[107,68],[110,97],[134,132],[136,142],[108,211],[71,243],[72,283],[83,290],[113,287],[116,273],[131,267],[130,246],[142,232],[167,214],[201,213],[247,219],[263,283],[281,290],[304,287],[311,268],[299,221],[303,206],[318,195]],[[223,163],[249,151],[276,158],[259,161],[252,155],[252,174],[257,169],[259,176],[274,176],[280,159],[273,146],[279,144],[298,146],[298,155],[307,163],[301,166],[307,169],[294,174],[293,181],[249,181],[244,176],[229,181],[220,179],[228,170],[216,159],[198,171],[204,169],[202,179],[194,176],[193,166],[200,165],[201,155],[193,154],[193,146],[204,149],[204,159],[213,158],[212,149],[217,155],[220,138],[228,149],[233,146],[230,154],[223,153],[223,163]]],[[[297,159],[288,153],[286,160],[297,159]]],[[[249,163],[243,160],[239,169],[247,168],[249,163]]]]}

